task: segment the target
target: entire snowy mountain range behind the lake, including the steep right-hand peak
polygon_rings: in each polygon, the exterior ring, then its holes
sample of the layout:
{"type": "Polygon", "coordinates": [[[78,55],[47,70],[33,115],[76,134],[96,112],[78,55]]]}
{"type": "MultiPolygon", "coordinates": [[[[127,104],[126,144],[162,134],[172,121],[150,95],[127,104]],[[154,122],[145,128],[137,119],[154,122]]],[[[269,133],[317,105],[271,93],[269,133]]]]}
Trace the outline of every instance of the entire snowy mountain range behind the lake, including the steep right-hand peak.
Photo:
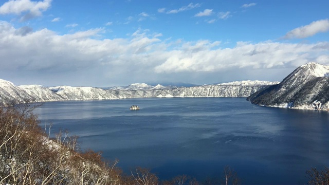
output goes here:
{"type": "Polygon", "coordinates": [[[0,79],[0,106],[26,102],[103,100],[151,97],[248,97],[262,106],[329,110],[329,66],[308,63],[281,83],[239,81],[193,87],[135,83],[120,87],[44,87],[20,85],[0,79]]]}

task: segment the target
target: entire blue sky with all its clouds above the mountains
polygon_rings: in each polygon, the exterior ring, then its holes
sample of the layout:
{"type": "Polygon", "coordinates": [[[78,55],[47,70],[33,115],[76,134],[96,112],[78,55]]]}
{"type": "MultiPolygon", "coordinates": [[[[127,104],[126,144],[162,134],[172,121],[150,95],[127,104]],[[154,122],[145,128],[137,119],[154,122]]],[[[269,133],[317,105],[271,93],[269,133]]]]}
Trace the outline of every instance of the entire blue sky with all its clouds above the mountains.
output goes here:
{"type": "Polygon", "coordinates": [[[282,81],[329,65],[327,0],[2,0],[0,79],[125,86],[282,81]]]}

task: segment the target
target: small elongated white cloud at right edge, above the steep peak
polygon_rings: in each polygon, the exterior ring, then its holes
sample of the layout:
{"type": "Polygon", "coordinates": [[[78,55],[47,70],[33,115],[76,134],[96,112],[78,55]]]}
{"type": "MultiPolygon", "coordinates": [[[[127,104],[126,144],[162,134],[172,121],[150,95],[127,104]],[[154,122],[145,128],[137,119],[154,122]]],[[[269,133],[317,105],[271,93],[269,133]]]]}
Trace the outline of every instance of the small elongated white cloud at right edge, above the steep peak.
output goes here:
{"type": "Polygon", "coordinates": [[[289,31],[283,38],[284,39],[303,39],[309,36],[313,36],[320,32],[327,32],[329,31],[329,20],[319,20],[314,21],[306,26],[301,26],[299,28],[295,28],[289,31]]]}

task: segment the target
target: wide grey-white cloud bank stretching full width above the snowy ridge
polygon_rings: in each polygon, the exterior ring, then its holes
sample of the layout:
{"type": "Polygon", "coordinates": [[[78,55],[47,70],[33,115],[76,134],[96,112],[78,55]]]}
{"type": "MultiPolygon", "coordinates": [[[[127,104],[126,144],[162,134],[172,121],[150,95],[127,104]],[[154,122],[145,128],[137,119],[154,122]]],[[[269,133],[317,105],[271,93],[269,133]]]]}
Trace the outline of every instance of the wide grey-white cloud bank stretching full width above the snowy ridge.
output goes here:
{"type": "MultiPolygon", "coordinates": [[[[0,21],[0,73],[3,77],[20,74],[24,80],[35,77],[39,81],[31,80],[31,83],[43,85],[53,85],[56,80],[61,85],[94,86],[127,85],[151,79],[215,83],[233,75],[234,79],[230,80],[250,77],[268,80],[269,69],[289,68],[290,71],[291,66],[310,61],[329,64],[327,42],[238,42],[233,48],[223,48],[220,42],[207,40],[160,40],[161,33],[142,29],[127,38],[94,39],[100,38],[98,35],[103,31],[90,29],[59,35],[48,29],[14,28],[0,21]],[[90,82],[86,84],[82,78],[90,82]]],[[[276,73],[276,77],[282,79],[287,75],[281,73],[276,73]]]]}

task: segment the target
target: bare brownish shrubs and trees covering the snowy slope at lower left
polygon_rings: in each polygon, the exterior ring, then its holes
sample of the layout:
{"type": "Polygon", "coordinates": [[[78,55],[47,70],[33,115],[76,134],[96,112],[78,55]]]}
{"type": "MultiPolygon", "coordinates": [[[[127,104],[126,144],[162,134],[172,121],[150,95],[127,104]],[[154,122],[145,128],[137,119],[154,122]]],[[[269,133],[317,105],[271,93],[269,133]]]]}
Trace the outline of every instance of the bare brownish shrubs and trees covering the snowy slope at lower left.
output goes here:
{"type": "Polygon", "coordinates": [[[34,104],[0,107],[0,184],[121,184],[118,161],[77,152],[76,137],[42,132],[34,104]]]}

